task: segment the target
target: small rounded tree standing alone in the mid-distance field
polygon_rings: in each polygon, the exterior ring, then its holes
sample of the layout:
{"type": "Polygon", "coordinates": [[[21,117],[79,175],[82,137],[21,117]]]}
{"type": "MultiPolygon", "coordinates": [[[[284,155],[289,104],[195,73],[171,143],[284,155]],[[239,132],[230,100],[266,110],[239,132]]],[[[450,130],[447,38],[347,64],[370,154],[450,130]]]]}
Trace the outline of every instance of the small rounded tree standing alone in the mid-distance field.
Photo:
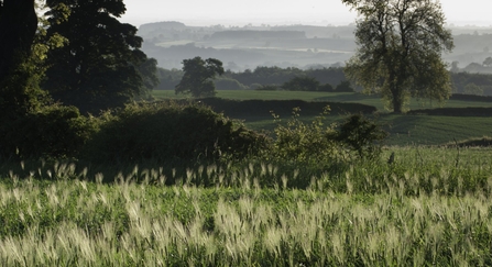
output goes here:
{"type": "Polygon", "coordinates": [[[214,97],[216,94],[216,86],[212,79],[217,75],[223,74],[222,63],[215,58],[206,60],[197,56],[192,59],[183,60],[183,76],[176,86],[177,93],[192,93],[194,98],[214,97]]]}

